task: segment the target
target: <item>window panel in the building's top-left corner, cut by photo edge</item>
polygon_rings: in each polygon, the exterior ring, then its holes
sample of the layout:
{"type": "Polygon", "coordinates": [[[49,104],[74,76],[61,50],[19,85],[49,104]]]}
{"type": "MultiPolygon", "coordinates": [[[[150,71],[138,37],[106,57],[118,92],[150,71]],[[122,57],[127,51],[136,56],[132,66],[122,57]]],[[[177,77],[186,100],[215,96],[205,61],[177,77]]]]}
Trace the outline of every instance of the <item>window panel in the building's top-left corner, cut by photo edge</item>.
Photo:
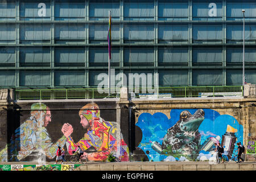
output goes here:
{"type": "Polygon", "coordinates": [[[0,20],[15,20],[15,3],[0,2],[0,20]]]}

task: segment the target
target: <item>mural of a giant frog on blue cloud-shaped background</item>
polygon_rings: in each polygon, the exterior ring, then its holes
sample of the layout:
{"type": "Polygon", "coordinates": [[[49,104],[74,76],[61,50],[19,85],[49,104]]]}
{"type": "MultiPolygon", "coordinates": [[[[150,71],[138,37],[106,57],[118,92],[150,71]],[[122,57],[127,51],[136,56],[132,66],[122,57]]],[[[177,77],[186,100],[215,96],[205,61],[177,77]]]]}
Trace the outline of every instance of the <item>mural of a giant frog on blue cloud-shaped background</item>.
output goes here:
{"type": "Polygon", "coordinates": [[[136,123],[141,129],[139,148],[150,161],[214,160],[214,143],[224,154],[243,142],[243,126],[231,115],[212,109],[172,109],[170,119],[163,113],[142,113],[136,123]]]}

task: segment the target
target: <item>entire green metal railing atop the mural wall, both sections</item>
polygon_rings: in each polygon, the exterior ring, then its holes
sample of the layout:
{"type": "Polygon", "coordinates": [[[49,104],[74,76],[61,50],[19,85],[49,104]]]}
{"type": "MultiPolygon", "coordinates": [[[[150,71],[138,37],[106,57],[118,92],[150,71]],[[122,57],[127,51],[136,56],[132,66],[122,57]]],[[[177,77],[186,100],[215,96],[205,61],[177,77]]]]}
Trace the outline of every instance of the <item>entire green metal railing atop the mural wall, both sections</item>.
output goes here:
{"type": "MultiPolygon", "coordinates": [[[[226,97],[243,96],[243,86],[185,86],[159,88],[128,88],[130,98],[172,98],[172,97],[226,97]]],[[[18,89],[16,100],[119,98],[120,89],[110,88],[104,93],[97,88],[81,89],[18,89]]]]}

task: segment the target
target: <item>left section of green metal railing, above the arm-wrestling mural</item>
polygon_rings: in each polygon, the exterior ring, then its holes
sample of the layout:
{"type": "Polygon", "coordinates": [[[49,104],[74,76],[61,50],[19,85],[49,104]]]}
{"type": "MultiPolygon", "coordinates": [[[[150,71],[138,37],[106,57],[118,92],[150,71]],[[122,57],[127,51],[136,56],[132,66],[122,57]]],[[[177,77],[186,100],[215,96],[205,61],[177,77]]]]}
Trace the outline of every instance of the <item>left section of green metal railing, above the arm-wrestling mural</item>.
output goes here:
{"type": "Polygon", "coordinates": [[[48,100],[48,99],[85,99],[85,98],[119,98],[119,88],[110,88],[98,92],[97,88],[81,89],[19,89],[15,90],[16,100],[48,100]]]}

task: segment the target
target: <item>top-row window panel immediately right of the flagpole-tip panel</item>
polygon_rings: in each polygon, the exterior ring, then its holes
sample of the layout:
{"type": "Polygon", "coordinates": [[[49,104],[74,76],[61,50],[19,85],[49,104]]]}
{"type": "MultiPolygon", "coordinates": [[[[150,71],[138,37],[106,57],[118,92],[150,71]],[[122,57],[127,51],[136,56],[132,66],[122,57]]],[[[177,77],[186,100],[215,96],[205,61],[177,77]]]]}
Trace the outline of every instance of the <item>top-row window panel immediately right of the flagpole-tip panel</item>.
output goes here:
{"type": "Polygon", "coordinates": [[[124,3],[123,11],[125,20],[154,19],[154,2],[124,3]]]}

